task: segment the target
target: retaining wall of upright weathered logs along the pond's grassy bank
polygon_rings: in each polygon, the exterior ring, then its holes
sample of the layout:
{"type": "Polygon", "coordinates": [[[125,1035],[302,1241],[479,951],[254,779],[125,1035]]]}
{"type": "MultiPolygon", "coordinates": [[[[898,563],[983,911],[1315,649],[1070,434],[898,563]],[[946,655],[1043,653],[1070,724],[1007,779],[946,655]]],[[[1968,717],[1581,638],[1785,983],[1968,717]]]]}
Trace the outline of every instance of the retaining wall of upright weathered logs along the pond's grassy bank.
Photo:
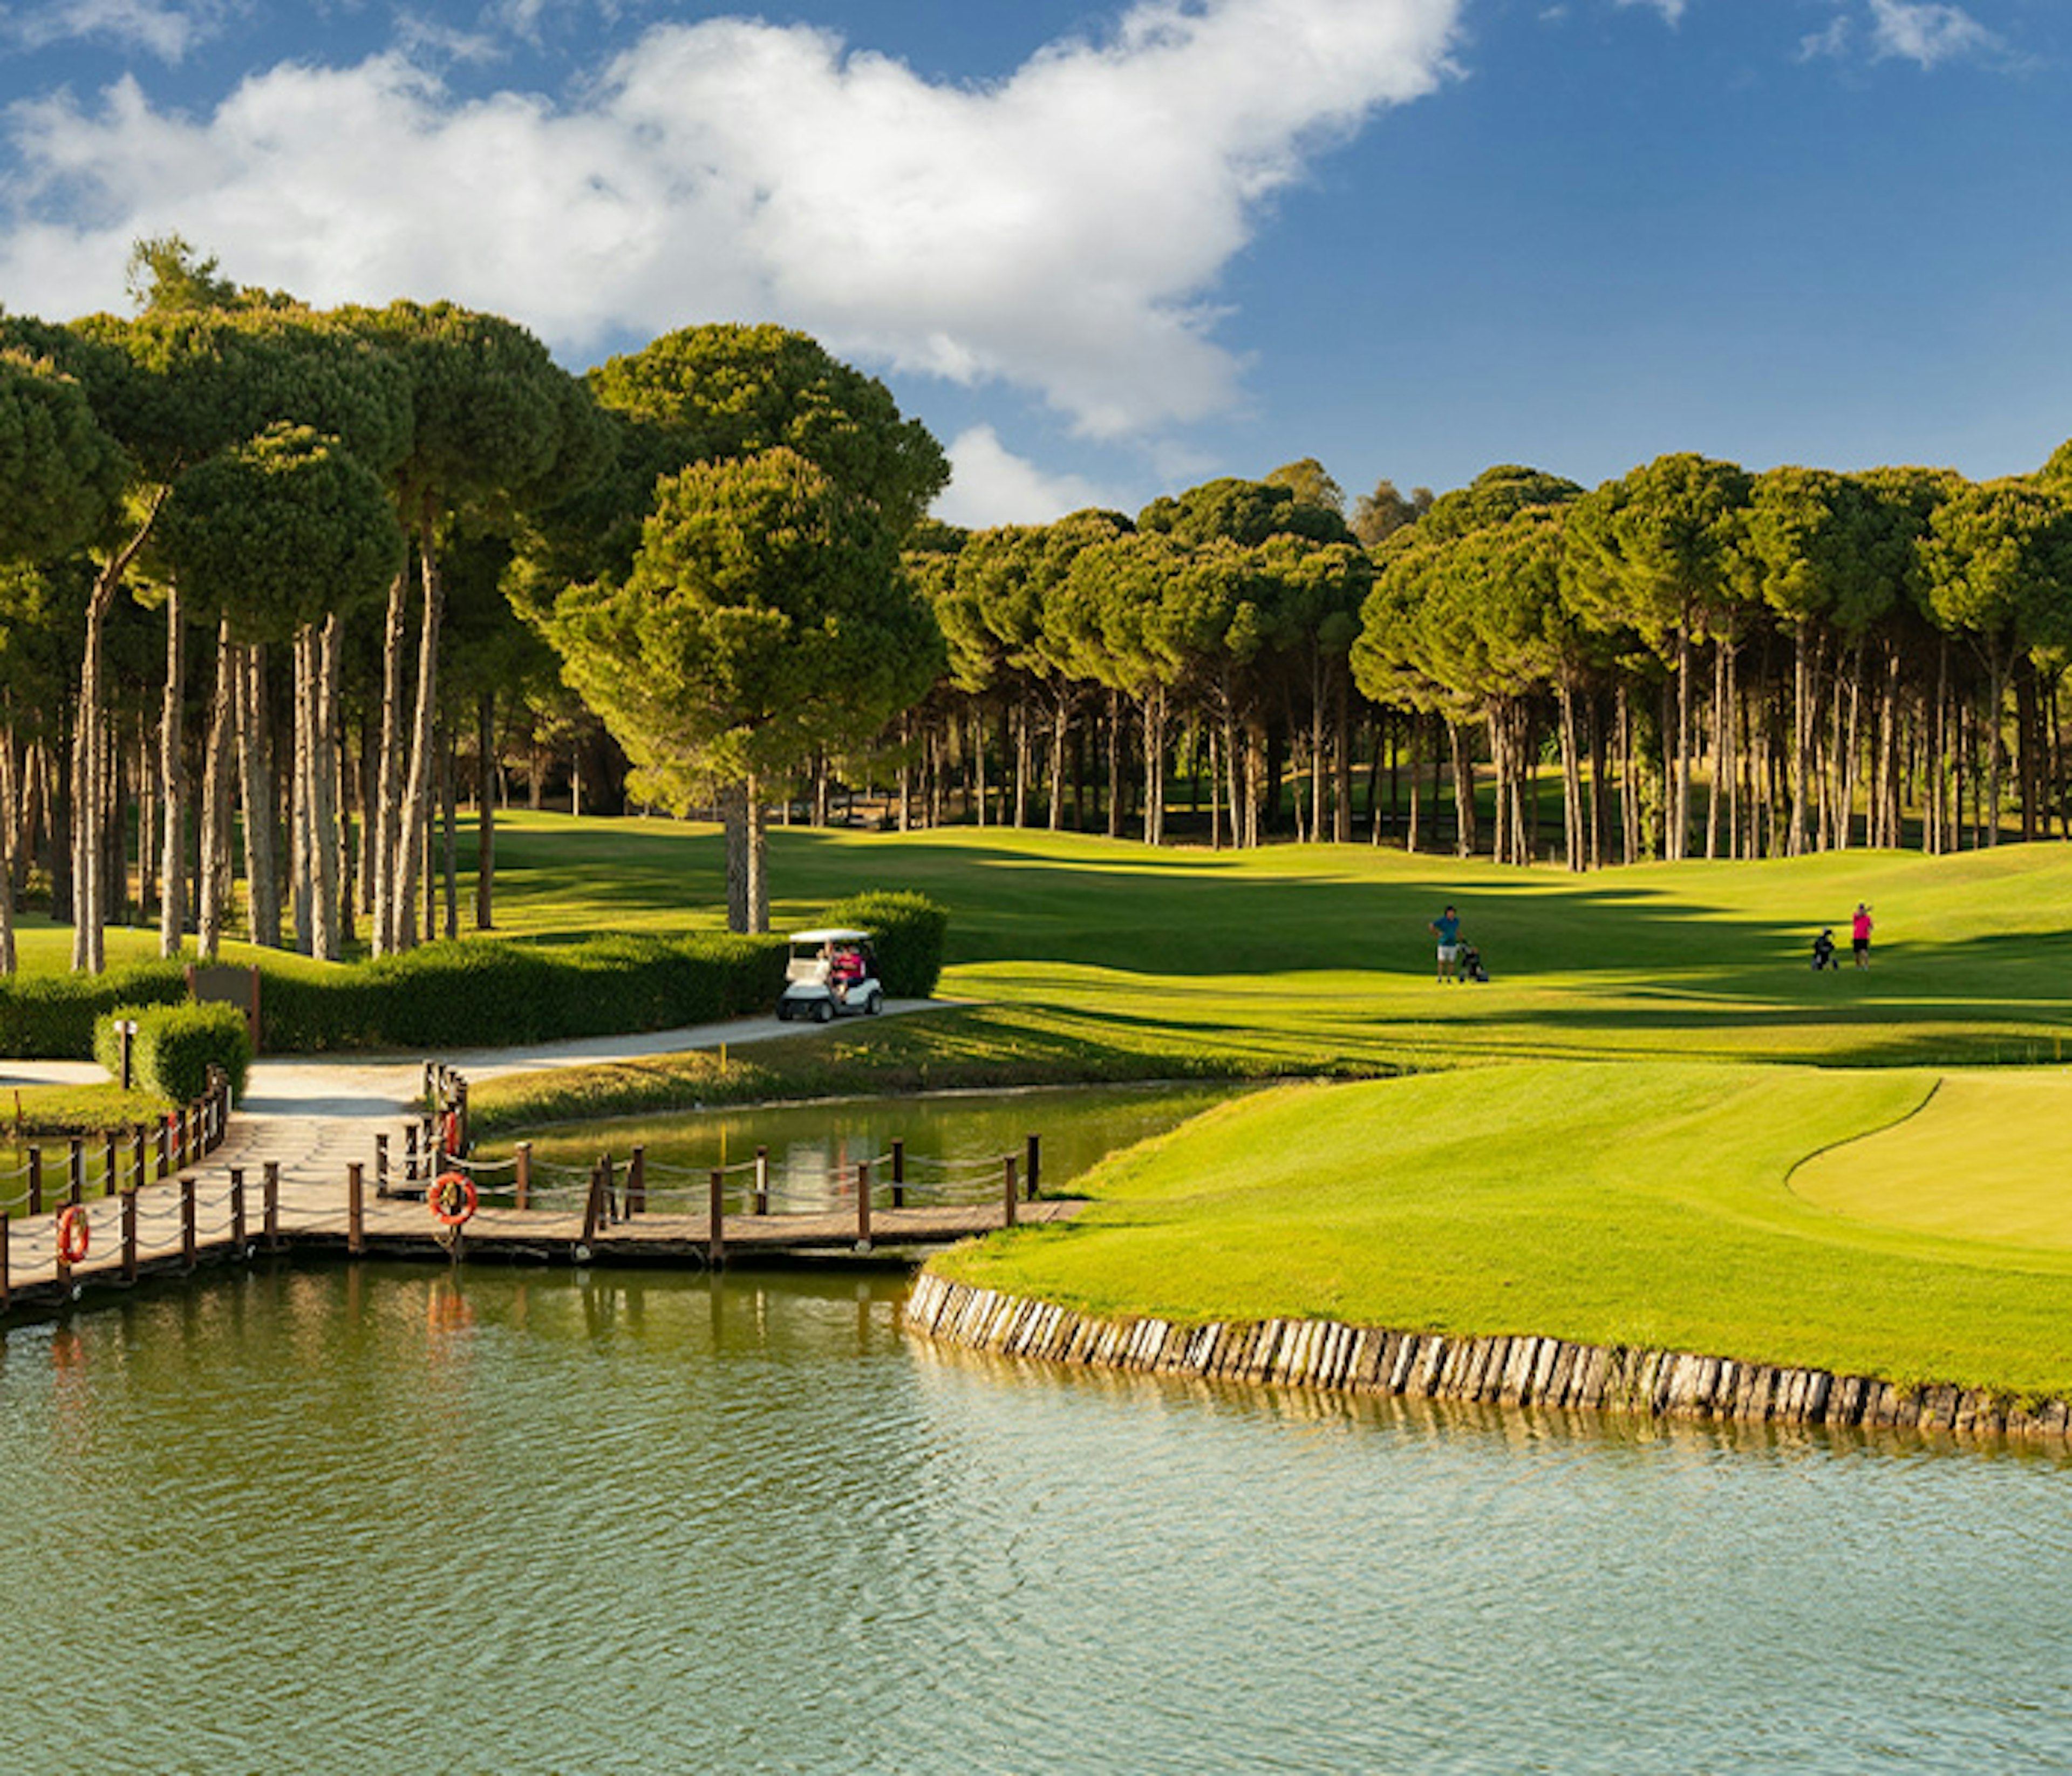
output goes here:
{"type": "Polygon", "coordinates": [[[1204,1326],[1156,1318],[1100,1320],[930,1272],[916,1279],[903,1318],[924,1339],[1005,1357],[1208,1380],[1641,1417],[1919,1428],[2020,1440],[2064,1440],[2072,1434],[2062,1399],[2022,1405],[1983,1388],[1900,1386],[1871,1376],[1566,1339],[1448,1339],[1336,1320],[1204,1326]]]}

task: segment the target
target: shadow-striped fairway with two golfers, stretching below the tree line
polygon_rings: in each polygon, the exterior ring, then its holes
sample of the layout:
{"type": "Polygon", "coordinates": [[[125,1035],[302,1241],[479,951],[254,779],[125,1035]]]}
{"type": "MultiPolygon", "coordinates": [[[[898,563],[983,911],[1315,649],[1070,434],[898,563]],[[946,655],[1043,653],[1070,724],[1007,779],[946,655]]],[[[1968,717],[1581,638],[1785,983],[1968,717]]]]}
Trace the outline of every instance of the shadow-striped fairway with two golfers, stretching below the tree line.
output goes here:
{"type": "MultiPolygon", "coordinates": [[[[715,926],[719,837],[671,821],[499,827],[514,935],[715,926]]],[[[1100,1044],[1247,1069],[1498,1059],[2055,1061],[2072,1034],[2072,850],[1844,852],[1598,875],[1370,846],[1146,852],[1003,829],[771,833],[775,922],[856,887],[951,912],[943,993],[1100,1044]],[[1496,976],[1434,986],[1448,901],[1496,976]],[[1877,914],[1875,966],[1815,976],[1813,933],[1877,914]]]]}

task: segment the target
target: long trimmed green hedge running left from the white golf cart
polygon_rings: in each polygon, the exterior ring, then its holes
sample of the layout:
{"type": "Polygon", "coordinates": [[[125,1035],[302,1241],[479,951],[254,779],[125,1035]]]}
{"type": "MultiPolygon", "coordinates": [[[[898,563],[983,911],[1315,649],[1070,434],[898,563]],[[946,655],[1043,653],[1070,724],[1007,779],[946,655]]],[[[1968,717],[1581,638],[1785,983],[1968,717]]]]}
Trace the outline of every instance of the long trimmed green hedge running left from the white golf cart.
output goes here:
{"type": "Polygon", "coordinates": [[[568,945],[427,943],[325,974],[261,964],[267,1049],[474,1049],[673,1030],[769,1011],[775,937],[593,937],[568,945]]]}

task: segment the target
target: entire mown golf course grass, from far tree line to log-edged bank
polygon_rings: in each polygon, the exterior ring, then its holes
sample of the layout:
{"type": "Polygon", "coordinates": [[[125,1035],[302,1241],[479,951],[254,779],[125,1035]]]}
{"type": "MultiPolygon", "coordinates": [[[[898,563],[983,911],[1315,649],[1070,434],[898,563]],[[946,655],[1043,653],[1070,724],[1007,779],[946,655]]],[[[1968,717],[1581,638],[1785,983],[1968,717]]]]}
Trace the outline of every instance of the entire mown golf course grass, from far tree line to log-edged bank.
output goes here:
{"type": "MultiPolygon", "coordinates": [[[[723,922],[711,827],[514,814],[497,850],[510,937],[723,922]]],[[[943,901],[943,993],[972,1003],[725,1063],[489,1082],[485,1123],[1409,1071],[1212,1113],[1098,1173],[1082,1223],[943,1264],[1092,1312],[1537,1333],[2072,1393],[2072,1078],[2037,1071],[2072,1034],[2072,848],[1566,875],[1368,846],[777,829],[771,881],[779,926],[862,887],[943,901]],[[1859,899],[1873,968],[1815,976],[1813,933],[1846,943],[1859,899]],[[1488,986],[1432,980],[1446,901],[1488,986]]]]}

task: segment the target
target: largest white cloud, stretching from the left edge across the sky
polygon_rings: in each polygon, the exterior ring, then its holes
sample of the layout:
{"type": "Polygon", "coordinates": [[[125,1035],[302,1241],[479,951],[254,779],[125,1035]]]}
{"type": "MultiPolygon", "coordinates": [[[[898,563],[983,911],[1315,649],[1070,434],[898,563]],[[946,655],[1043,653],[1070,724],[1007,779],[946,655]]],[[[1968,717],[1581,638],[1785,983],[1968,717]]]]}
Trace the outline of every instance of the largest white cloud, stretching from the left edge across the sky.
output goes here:
{"type": "Polygon", "coordinates": [[[781,319],[1040,392],[1092,435],[1235,398],[1222,267],[1310,155],[1448,73],[1465,0],[1142,0],[988,87],[804,27],[651,29],[555,106],[406,56],[278,66],[213,114],[135,81],[8,114],[17,309],[118,300],[139,234],[317,303],[452,296],[572,350],[781,319]]]}

